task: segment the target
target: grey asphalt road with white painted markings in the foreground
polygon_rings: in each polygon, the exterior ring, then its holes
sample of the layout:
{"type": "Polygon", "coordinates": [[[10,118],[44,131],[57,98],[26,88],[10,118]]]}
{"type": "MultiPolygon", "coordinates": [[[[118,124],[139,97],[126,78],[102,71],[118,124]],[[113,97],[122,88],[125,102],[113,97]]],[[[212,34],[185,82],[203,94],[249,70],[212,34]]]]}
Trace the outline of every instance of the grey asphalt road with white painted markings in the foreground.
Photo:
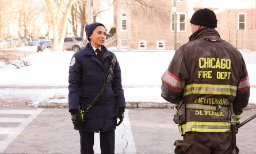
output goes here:
{"type": "MultiPolygon", "coordinates": [[[[173,154],[178,126],[174,109],[129,109],[116,129],[118,154],[173,154]]],[[[241,121],[255,111],[245,110],[241,121]]],[[[256,119],[237,134],[239,154],[256,154],[256,119]]],[[[67,108],[33,108],[0,105],[0,153],[79,154],[79,133],[73,130],[67,108]]],[[[95,153],[100,153],[95,133],[95,153]]]]}

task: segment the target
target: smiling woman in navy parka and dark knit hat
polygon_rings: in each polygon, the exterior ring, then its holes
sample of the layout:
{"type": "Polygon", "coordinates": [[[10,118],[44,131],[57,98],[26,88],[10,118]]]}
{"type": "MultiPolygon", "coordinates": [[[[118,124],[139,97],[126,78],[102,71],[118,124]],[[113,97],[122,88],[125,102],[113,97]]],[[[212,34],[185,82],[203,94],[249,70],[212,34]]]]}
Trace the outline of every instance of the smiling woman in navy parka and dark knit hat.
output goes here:
{"type": "Polygon", "coordinates": [[[69,67],[69,112],[74,129],[80,133],[81,154],[94,153],[94,133],[99,131],[101,153],[114,154],[114,130],[123,121],[126,106],[121,84],[121,69],[118,62],[111,63],[115,55],[104,46],[104,25],[86,25],[85,32],[89,43],[83,50],[73,55],[69,67]],[[110,69],[113,73],[109,74],[110,69]],[[104,88],[105,79],[110,75],[111,80],[104,88]],[[98,100],[95,99],[101,90],[104,91],[103,94],[98,100]],[[86,112],[93,100],[97,101],[86,112]],[[85,110],[85,122],[81,122],[79,109],[85,110]],[[120,121],[116,124],[118,118],[120,121]]]}

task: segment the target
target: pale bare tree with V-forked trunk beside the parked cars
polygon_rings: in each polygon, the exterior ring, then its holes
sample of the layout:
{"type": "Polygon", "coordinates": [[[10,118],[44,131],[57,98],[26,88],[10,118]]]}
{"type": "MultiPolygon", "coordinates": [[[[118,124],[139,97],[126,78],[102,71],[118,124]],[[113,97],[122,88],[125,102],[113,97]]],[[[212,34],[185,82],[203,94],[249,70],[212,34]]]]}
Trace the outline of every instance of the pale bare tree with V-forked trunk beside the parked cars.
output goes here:
{"type": "Polygon", "coordinates": [[[55,12],[53,11],[52,5],[50,3],[50,0],[45,0],[45,2],[47,3],[47,7],[49,9],[49,12],[51,14],[51,18],[52,18],[52,28],[53,28],[53,51],[58,51],[58,50],[62,50],[63,47],[63,43],[64,43],[64,37],[65,37],[65,33],[66,33],[66,25],[67,25],[67,18],[68,18],[68,13],[71,9],[73,0],[69,0],[69,3],[65,9],[65,13],[64,13],[64,17],[62,20],[62,26],[61,26],[61,32],[60,32],[60,36],[58,33],[58,25],[59,25],[59,19],[60,19],[60,14],[62,13],[61,9],[63,6],[63,0],[60,0],[59,4],[58,4],[58,8],[57,8],[57,12],[55,14],[55,12]]]}

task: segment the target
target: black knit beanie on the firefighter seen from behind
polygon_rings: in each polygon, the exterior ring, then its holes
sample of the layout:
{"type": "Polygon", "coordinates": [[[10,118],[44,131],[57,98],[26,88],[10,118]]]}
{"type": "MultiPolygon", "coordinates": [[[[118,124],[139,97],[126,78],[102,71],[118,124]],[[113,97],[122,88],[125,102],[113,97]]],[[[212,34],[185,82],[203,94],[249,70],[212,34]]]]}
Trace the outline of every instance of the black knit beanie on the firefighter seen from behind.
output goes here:
{"type": "Polygon", "coordinates": [[[205,27],[216,28],[217,18],[213,11],[210,9],[199,9],[194,12],[191,17],[190,23],[194,25],[201,25],[205,27]]]}

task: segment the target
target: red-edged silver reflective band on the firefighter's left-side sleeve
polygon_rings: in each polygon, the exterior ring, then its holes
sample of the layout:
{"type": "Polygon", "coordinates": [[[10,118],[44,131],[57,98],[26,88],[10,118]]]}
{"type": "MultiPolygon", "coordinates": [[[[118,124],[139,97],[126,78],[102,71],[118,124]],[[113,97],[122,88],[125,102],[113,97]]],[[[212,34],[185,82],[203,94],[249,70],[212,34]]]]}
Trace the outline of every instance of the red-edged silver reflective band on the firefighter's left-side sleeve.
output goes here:
{"type": "Polygon", "coordinates": [[[185,80],[180,79],[176,76],[174,76],[171,72],[166,70],[162,76],[162,80],[170,85],[171,87],[178,89],[178,90],[183,90],[185,87],[185,80]]]}

